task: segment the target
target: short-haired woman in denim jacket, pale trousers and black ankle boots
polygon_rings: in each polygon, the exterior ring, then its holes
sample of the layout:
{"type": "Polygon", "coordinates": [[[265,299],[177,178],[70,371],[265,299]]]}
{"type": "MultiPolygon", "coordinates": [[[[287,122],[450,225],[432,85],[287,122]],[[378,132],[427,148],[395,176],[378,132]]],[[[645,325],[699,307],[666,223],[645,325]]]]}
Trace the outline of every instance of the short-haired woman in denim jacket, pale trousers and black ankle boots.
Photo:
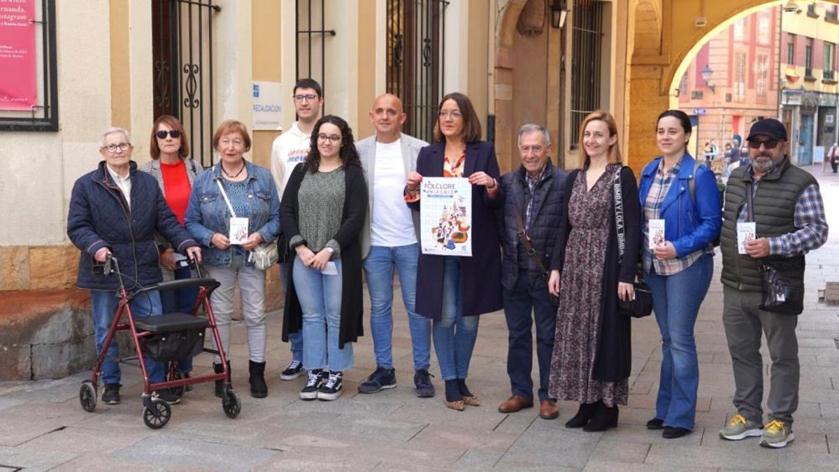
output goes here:
{"type": "MultiPolygon", "coordinates": [[[[221,157],[218,164],[201,173],[192,186],[186,211],[186,229],[206,248],[207,272],[221,282],[212,292],[221,343],[230,352],[230,318],[233,314],[233,289],[238,283],[242,294],[242,312],[248,331],[251,395],[268,395],[265,385],[265,271],[250,260],[250,251],[270,243],[279,234],[279,197],[271,173],[245,160],[251,138],[245,125],[228,120],[216,129],[213,147],[221,157]],[[224,193],[221,188],[224,188],[224,193]],[[227,198],[225,198],[227,196],[227,198]],[[229,204],[228,201],[229,200],[229,204]],[[232,206],[235,215],[229,207],[232,206]],[[248,234],[241,244],[231,244],[231,218],[247,218],[248,234]]],[[[229,363],[229,359],[225,359],[229,363]]],[[[222,371],[221,359],[213,364],[222,371]]],[[[222,382],[216,381],[216,396],[221,396],[222,382]]]]}

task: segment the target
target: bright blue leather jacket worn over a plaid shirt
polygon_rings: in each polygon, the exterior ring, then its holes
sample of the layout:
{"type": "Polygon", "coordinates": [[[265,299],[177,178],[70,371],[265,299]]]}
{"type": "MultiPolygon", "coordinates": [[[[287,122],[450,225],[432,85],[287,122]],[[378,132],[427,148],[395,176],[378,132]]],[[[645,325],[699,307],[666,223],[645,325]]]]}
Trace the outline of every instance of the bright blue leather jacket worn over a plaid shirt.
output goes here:
{"type": "MultiPolygon", "coordinates": [[[[642,207],[647,201],[649,187],[653,185],[661,159],[661,156],[655,158],[644,166],[641,172],[638,196],[642,207]]],[[[685,153],[679,163],[679,175],[670,185],[670,190],[661,204],[664,239],[673,243],[677,257],[685,257],[706,248],[711,241],[717,239],[722,228],[722,206],[717,190],[717,178],[706,165],[700,165],[694,176],[694,162],[693,157],[685,153]],[[690,196],[691,179],[696,181],[696,202],[690,196]]]]}

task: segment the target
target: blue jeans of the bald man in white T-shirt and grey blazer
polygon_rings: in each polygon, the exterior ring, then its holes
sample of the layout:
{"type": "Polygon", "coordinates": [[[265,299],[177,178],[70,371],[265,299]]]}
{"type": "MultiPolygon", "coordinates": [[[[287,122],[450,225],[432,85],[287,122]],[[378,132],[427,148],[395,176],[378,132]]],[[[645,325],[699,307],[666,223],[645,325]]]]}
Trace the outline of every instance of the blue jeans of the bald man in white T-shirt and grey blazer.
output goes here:
{"type": "Polygon", "coordinates": [[[388,248],[371,246],[364,271],[370,291],[370,330],[376,365],[393,368],[393,266],[399,273],[402,302],[408,312],[414,370],[428,369],[431,358],[431,321],[414,312],[420,244],[388,248]]]}

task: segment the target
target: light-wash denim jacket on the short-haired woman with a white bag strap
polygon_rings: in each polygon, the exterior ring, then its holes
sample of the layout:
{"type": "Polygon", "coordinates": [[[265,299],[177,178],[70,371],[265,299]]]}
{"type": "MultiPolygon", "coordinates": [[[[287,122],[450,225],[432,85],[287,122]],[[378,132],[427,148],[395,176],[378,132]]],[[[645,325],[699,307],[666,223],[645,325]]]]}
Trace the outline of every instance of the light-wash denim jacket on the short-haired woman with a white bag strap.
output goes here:
{"type": "MultiPolygon", "coordinates": [[[[248,204],[250,218],[248,234],[259,233],[266,243],[277,239],[279,234],[279,196],[271,172],[264,167],[245,160],[248,168],[248,204]]],[[[218,249],[211,245],[215,233],[227,236],[230,233],[230,210],[216,181],[221,179],[221,165],[213,165],[195,178],[190,194],[190,206],[186,209],[185,226],[202,246],[207,265],[230,265],[233,247],[218,249]]],[[[250,264],[250,263],[248,263],[250,264]]]]}

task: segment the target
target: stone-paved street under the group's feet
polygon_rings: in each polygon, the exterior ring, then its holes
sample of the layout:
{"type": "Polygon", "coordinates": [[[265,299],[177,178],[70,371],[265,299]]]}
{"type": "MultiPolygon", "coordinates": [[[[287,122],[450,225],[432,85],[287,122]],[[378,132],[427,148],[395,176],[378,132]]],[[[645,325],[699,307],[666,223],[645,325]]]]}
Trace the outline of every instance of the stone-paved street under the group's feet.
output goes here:
{"type": "MultiPolygon", "coordinates": [[[[537,409],[499,413],[509,395],[507,330],[503,313],[482,317],[469,380],[482,406],[454,412],[438,395],[412,392],[410,338],[399,291],[394,356],[399,387],[357,393],[375,367],[369,332],[355,345],[356,366],[346,373],[337,401],[300,401],[303,378],[279,380],[289,360],[280,341],[281,314],[268,326],[267,398],[248,395],[247,346],[241,323],[233,328],[234,386],[242,413],[228,419],[211,384],[195,385],[163,429],[143,425],[138,368],[124,365],[122,404],[100,403],[93,413],[78,401],[81,380],[0,383],[0,470],[5,469],[839,469],[839,307],[817,300],[825,281],[839,281],[839,176],[821,175],[831,239],[807,257],[807,297],[800,316],[800,406],[795,443],[760,448],[756,438],[727,442],[717,430],[734,412],[731,359],[723,332],[720,258],[696,323],[700,386],[696,430],[666,440],[648,431],[658,388],[659,333],[652,317],[633,322],[629,406],[607,433],[565,429],[576,406],[560,402],[560,418],[537,409]]],[[[366,329],[369,328],[366,323],[366,329]]],[[[764,364],[769,354],[763,354],[764,364]]],[[[211,357],[195,359],[209,371],[211,357]]],[[[436,365],[432,373],[439,374],[436,365]]],[[[768,382],[767,382],[768,385],[768,382]]]]}

